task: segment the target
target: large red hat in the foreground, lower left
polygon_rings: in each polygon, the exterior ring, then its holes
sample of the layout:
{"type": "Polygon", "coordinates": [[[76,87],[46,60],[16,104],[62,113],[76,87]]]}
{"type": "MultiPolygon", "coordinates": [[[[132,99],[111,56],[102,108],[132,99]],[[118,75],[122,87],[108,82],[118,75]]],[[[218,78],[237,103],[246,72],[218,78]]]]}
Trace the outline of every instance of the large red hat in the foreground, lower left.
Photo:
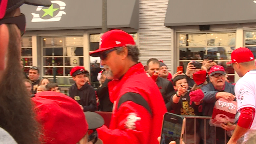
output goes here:
{"type": "Polygon", "coordinates": [[[74,99],[62,93],[41,92],[35,94],[32,100],[35,103],[36,118],[43,126],[43,140],[46,144],[77,143],[89,128],[100,128],[104,124],[102,117],[99,119],[84,114],[74,99]],[[93,121],[93,125],[88,126],[85,115],[88,124],[93,121]]]}

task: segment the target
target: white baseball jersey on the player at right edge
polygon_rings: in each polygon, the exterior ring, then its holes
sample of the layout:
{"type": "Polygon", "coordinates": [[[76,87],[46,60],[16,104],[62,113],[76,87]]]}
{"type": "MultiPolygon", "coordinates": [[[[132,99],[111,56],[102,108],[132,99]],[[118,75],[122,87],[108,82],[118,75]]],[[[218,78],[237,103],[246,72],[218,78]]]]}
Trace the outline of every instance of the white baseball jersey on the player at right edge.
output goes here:
{"type": "MultiPolygon", "coordinates": [[[[256,105],[256,70],[247,72],[235,84],[235,97],[238,102],[238,112],[245,107],[252,107],[256,105]]],[[[256,132],[256,118],[254,118],[250,130],[245,136],[256,132]]]]}

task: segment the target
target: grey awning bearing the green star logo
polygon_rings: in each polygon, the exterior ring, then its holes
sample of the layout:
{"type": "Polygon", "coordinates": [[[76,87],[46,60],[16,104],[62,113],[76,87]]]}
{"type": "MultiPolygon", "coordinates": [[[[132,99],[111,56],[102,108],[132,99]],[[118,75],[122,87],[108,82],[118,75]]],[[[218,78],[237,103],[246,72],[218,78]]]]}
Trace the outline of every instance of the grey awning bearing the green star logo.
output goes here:
{"type": "MultiPolygon", "coordinates": [[[[27,30],[102,28],[102,0],[51,2],[51,7],[21,7],[27,30]]],[[[139,29],[139,0],[107,1],[107,20],[108,28],[139,29]]]]}

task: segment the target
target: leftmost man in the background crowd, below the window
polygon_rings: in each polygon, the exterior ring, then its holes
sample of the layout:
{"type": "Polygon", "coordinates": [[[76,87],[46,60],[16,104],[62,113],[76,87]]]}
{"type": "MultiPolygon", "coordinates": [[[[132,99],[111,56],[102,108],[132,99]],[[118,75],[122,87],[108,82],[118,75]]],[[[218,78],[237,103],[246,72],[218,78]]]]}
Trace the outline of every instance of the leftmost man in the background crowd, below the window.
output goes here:
{"type": "Polygon", "coordinates": [[[29,79],[32,81],[32,89],[31,92],[36,94],[37,87],[40,84],[40,73],[37,67],[30,67],[28,71],[29,79]]]}

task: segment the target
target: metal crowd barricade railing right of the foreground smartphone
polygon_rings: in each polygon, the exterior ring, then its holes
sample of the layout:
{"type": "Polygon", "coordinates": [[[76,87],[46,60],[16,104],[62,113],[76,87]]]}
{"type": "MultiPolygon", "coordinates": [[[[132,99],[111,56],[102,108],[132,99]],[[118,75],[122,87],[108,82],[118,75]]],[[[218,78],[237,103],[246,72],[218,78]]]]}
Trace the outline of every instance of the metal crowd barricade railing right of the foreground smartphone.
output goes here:
{"type": "MultiPolygon", "coordinates": [[[[202,121],[204,121],[204,144],[206,144],[206,125],[209,125],[209,123],[206,124],[206,119],[210,119],[211,116],[190,116],[190,115],[182,115],[182,116],[185,117],[186,119],[189,119],[189,118],[194,119],[194,143],[198,142],[198,141],[196,141],[196,119],[202,119],[202,121]]],[[[200,127],[201,127],[201,125],[200,125],[200,127]]],[[[214,143],[216,144],[216,127],[214,127],[214,135],[215,135],[214,143]]],[[[186,125],[185,125],[185,136],[183,138],[183,141],[186,143],[186,125]]],[[[227,131],[226,130],[225,130],[225,143],[227,143],[227,131]]]]}

